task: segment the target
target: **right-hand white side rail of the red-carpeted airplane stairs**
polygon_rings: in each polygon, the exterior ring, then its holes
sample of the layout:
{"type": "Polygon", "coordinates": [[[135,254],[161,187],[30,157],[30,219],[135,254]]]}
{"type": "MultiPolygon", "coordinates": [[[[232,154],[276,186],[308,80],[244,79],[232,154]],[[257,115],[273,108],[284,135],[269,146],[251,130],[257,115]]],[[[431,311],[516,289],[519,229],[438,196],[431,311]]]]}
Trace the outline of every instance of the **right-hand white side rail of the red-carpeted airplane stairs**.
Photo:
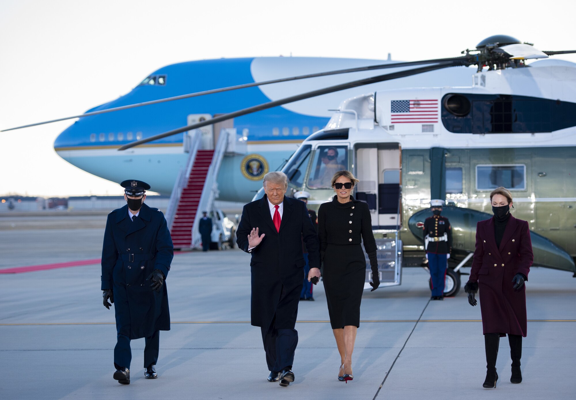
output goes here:
{"type": "Polygon", "coordinates": [[[229,132],[225,129],[220,131],[218,136],[218,142],[214,147],[214,154],[212,155],[212,162],[208,168],[208,173],[206,174],[206,181],[204,181],[204,186],[202,188],[202,195],[200,196],[200,201],[198,203],[198,209],[196,210],[196,216],[194,218],[194,223],[192,224],[192,242],[190,247],[194,248],[200,245],[202,238],[200,237],[199,231],[199,218],[200,213],[204,210],[210,211],[213,207],[214,200],[218,193],[218,183],[216,182],[218,178],[218,172],[220,166],[222,165],[222,158],[226,153],[226,148],[228,147],[228,135],[229,132]]]}

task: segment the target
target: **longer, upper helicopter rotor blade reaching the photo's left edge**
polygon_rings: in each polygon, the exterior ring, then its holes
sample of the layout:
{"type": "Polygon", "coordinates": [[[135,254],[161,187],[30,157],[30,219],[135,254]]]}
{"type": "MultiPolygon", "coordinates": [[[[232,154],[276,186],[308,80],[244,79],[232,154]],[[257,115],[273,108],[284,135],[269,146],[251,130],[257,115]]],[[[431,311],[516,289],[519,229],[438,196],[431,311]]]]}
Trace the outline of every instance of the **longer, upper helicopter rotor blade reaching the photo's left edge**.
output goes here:
{"type": "Polygon", "coordinates": [[[2,129],[0,132],[7,132],[7,131],[13,131],[15,129],[35,127],[37,125],[51,124],[53,122],[65,121],[65,120],[70,120],[70,119],[74,119],[74,118],[82,118],[82,117],[89,117],[89,116],[93,116],[93,115],[100,115],[100,114],[104,114],[104,113],[108,113],[108,112],[122,111],[122,110],[131,109],[131,108],[142,107],[145,105],[160,104],[160,103],[167,102],[167,101],[182,100],[184,98],[206,96],[207,94],[229,92],[230,90],[246,89],[248,87],[254,87],[254,86],[270,85],[271,83],[281,83],[281,82],[297,81],[298,79],[325,77],[328,75],[338,75],[338,74],[348,74],[348,73],[362,72],[362,71],[382,70],[385,68],[410,67],[410,66],[416,66],[416,65],[422,65],[422,64],[432,64],[432,63],[451,62],[451,61],[460,61],[460,60],[462,60],[462,61],[467,60],[467,57],[466,56],[460,56],[460,57],[452,57],[452,58],[439,58],[439,59],[431,59],[431,60],[408,61],[408,62],[401,62],[401,63],[377,64],[377,65],[365,66],[365,67],[346,68],[343,70],[325,71],[325,72],[321,72],[321,73],[298,75],[296,77],[272,79],[270,81],[243,83],[242,85],[221,87],[218,89],[203,90],[202,92],[181,94],[180,96],[159,98],[157,100],[144,101],[144,102],[136,103],[136,104],[127,104],[127,105],[123,105],[123,106],[107,108],[107,109],[103,109],[103,110],[92,111],[92,112],[88,112],[88,113],[84,113],[84,114],[74,115],[71,117],[64,117],[64,118],[59,118],[59,119],[50,120],[50,121],[38,122],[35,124],[22,125],[20,127],[2,129]]]}

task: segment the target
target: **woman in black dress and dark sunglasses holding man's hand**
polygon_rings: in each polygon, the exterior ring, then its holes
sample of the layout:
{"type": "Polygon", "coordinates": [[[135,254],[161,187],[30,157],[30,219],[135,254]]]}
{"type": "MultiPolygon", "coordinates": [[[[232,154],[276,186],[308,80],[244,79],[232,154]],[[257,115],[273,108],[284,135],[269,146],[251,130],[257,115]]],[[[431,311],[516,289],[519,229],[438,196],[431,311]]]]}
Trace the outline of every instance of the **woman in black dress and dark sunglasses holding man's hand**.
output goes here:
{"type": "Polygon", "coordinates": [[[380,285],[376,241],[368,205],[351,196],[357,178],[346,170],[334,174],[336,196],[318,210],[320,259],[324,261],[324,288],[328,314],[340,353],[338,379],[352,380],[352,353],[360,326],[360,302],[366,277],[364,248],[373,272],[373,291],[380,285]]]}

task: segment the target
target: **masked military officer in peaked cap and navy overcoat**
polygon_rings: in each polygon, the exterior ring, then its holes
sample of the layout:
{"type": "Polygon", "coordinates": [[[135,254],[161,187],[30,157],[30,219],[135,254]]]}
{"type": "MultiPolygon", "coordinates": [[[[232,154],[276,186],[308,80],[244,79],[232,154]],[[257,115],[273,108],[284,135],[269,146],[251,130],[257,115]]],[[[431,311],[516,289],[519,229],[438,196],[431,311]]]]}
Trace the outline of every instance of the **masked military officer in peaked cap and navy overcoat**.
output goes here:
{"type": "Polygon", "coordinates": [[[164,214],[144,204],[150,185],[123,181],[127,204],[108,214],[102,248],[104,306],[114,303],[118,342],[114,379],[130,383],[130,340],[146,338],[145,378],[157,378],[160,330],[170,330],[165,279],[174,247],[164,214]]]}

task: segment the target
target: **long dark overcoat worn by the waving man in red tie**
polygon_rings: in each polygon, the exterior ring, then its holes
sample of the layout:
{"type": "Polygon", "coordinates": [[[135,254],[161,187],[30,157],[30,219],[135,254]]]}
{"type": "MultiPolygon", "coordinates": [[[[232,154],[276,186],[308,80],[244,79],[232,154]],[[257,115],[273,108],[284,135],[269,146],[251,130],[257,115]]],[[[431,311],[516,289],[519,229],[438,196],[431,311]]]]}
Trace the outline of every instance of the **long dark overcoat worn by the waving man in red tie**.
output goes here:
{"type": "Polygon", "coordinates": [[[284,197],[284,210],[279,231],[276,231],[268,198],[244,206],[236,233],[238,247],[248,252],[248,235],[252,228],[266,234],[250,252],[252,272],[252,325],[270,326],[276,315],[276,328],[294,328],[300,291],[304,283],[302,240],[308,249],[310,268],[320,268],[320,244],[306,204],[284,197]],[[282,292],[285,297],[279,301],[282,292]]]}

